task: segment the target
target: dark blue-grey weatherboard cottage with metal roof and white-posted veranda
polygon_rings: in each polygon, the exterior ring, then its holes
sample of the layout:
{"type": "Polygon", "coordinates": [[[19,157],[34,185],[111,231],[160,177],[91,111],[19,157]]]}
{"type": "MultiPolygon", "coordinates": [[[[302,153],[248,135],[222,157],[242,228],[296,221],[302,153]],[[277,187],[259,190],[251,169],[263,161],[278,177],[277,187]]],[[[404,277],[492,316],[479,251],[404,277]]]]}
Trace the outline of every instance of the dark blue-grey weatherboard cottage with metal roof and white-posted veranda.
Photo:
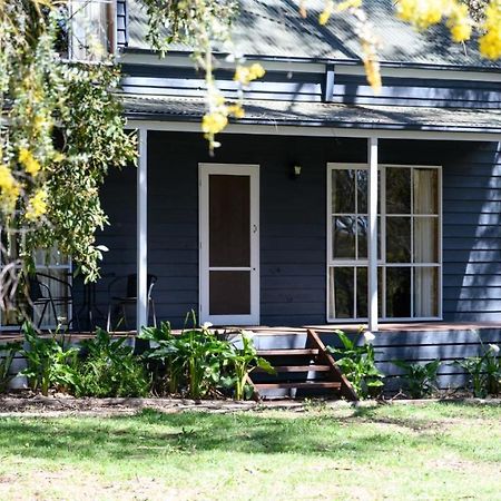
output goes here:
{"type": "MultiPolygon", "coordinates": [[[[240,3],[235,40],[266,75],[214,157],[188,49],[159,59],[144,10],[117,3],[121,98],[140,158],[105,187],[101,240],[105,275],[138,271],[138,324],[150,273],[157,316],[176,327],[194,308],[217,325],[282,326],[293,345],[293,327],[369,323],[390,373],[394,357],[452,360],[475,354],[479,338],[500,342],[499,63],[442,28],[415,32],[391,0],[365,0],[383,42],[374,96],[347,14],[320,27],[321,2],[307,19],[296,1],[240,3]]],[[[224,55],[217,77],[236,97],[224,55]]],[[[104,279],[100,310],[107,301],[104,279]]],[[[441,371],[443,387],[462,381],[441,371]]]]}

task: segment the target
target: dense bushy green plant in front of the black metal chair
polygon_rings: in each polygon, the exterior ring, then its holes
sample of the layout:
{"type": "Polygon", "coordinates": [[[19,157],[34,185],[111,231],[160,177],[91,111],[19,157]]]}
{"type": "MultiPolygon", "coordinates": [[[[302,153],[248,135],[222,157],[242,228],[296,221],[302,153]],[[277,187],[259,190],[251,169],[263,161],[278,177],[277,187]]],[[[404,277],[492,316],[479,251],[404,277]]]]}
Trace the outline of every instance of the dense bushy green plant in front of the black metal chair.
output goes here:
{"type": "Polygon", "coordinates": [[[84,360],[75,379],[77,396],[146,396],[150,381],[145,367],[126,346],[126,337],[114,340],[101,328],[81,343],[84,360]]]}

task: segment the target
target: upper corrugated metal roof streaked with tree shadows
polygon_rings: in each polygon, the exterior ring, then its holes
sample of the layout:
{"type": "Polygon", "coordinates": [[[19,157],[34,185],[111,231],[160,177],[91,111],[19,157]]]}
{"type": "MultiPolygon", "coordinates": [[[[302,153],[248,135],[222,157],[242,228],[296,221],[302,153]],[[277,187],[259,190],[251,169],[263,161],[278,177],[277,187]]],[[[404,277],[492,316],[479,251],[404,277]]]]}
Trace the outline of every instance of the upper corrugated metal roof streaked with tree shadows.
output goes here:
{"type": "MultiPolygon", "coordinates": [[[[474,41],[453,43],[443,26],[418,32],[394,16],[393,0],[364,0],[386,62],[501,68],[483,59],[474,41]]],[[[128,0],[128,47],[149,49],[147,18],[138,0],[128,0]]],[[[240,0],[240,16],[234,27],[234,40],[246,56],[358,60],[361,48],[348,13],[333,17],[326,27],[318,24],[323,0],[310,0],[310,16],[298,14],[298,0],[240,0]]],[[[216,48],[223,50],[223,48],[216,48]]],[[[173,46],[171,50],[188,50],[173,46]]]]}

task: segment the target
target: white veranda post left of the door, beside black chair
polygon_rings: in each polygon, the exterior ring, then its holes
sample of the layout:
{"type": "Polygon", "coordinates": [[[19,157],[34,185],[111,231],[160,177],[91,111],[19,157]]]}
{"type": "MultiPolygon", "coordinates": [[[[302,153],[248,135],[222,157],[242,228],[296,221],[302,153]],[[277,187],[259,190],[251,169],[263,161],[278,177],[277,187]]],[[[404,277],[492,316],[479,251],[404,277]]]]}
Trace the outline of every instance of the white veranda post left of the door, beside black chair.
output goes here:
{"type": "Polygon", "coordinates": [[[136,330],[148,324],[148,130],[138,130],[139,166],[137,169],[137,303],[136,330]]]}

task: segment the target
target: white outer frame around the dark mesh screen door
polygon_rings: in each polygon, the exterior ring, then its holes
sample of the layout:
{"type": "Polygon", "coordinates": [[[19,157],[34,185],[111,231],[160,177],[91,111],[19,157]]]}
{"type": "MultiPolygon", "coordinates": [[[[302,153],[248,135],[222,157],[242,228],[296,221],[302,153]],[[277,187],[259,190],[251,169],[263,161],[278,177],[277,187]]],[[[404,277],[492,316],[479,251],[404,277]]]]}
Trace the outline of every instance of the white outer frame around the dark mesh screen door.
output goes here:
{"type": "Polygon", "coordinates": [[[259,325],[259,166],[256,164],[198,164],[198,316],[214,325],[259,325]],[[250,178],[250,314],[209,314],[209,175],[249,176],[250,178]]]}

